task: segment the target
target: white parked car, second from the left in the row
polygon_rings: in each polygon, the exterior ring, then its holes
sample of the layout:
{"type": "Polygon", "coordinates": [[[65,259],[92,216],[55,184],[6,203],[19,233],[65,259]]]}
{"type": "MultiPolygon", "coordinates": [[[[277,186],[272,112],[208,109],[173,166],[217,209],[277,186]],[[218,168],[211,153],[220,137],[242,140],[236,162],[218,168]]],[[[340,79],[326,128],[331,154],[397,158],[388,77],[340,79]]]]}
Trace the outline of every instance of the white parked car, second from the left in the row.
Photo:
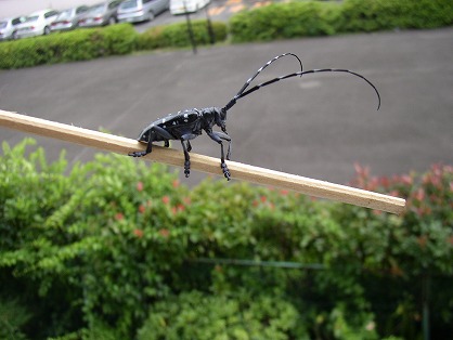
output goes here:
{"type": "Polygon", "coordinates": [[[52,23],[59,16],[54,10],[43,10],[31,13],[26,21],[17,26],[17,38],[49,35],[52,23]]]}

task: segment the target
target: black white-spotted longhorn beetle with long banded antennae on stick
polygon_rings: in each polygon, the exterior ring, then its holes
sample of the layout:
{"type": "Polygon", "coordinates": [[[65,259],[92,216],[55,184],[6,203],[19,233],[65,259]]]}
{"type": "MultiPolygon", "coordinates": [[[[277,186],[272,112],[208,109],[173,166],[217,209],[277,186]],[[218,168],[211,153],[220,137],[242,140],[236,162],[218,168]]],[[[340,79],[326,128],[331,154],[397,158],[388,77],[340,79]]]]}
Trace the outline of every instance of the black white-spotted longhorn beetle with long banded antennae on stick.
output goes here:
{"type": "Polygon", "coordinates": [[[352,76],[359,77],[366,81],[376,92],[378,105],[377,109],[380,107],[380,95],[377,91],[376,87],[367,80],[365,77],[348,70],[348,69],[340,69],[340,68],[321,68],[321,69],[310,69],[303,70],[302,63],[300,58],[293,53],[284,53],[281,55],[275,56],[274,58],[270,60],[263,66],[261,66],[254,76],[251,76],[241,88],[235,96],[233,96],[230,102],[223,106],[222,108],[219,107],[206,107],[206,108],[191,108],[179,112],[177,114],[170,114],[166,118],[157,119],[156,121],[152,122],[147,126],[141,133],[138,139],[139,142],[147,143],[145,151],[132,152],[129,153],[129,156],[132,157],[142,157],[150,154],[153,149],[153,142],[164,142],[165,147],[169,147],[170,140],[179,140],[181,141],[182,149],[184,152],[184,174],[189,178],[191,172],[191,159],[189,153],[192,151],[191,140],[195,139],[196,136],[200,135],[203,130],[210,136],[211,140],[220,144],[220,168],[222,169],[223,175],[226,180],[230,181],[231,174],[225,164],[225,155],[223,151],[223,141],[228,142],[228,152],[226,152],[226,159],[230,160],[231,155],[231,138],[226,133],[226,112],[236,104],[238,99],[242,99],[263,87],[267,87],[271,83],[277,82],[280,80],[303,76],[308,74],[315,74],[315,73],[347,73],[352,76]],[[266,82],[259,83],[250,89],[247,90],[251,81],[269,65],[273,62],[277,61],[283,56],[294,56],[298,60],[300,64],[300,71],[296,71],[293,74],[288,74],[285,76],[281,76],[266,82]],[[246,91],[247,90],[247,91],[246,91]],[[218,126],[222,130],[220,131],[212,131],[212,127],[218,126]]]}

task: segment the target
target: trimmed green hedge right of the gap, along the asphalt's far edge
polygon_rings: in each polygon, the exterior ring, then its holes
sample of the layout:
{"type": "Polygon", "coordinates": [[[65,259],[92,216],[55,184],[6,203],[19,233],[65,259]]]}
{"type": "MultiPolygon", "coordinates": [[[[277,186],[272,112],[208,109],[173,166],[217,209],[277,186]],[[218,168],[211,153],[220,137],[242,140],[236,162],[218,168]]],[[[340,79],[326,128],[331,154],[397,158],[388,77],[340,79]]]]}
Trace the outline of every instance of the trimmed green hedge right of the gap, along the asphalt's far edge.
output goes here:
{"type": "Polygon", "coordinates": [[[293,1],[233,15],[230,30],[244,42],[452,24],[450,0],[293,1]]]}

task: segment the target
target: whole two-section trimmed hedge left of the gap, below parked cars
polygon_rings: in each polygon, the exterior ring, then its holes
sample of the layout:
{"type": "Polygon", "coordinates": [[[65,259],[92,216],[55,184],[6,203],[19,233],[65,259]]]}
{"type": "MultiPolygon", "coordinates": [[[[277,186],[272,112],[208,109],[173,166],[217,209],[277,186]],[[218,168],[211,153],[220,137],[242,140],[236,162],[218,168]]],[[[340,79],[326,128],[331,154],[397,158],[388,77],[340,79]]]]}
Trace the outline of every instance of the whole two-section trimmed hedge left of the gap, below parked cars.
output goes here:
{"type": "MultiPolygon", "coordinates": [[[[226,24],[213,22],[211,27],[216,42],[226,39],[226,24]]],[[[192,28],[197,45],[211,42],[206,21],[193,22],[192,28]]],[[[138,34],[129,24],[120,24],[0,43],[0,68],[88,61],[137,50],[189,45],[185,23],[154,27],[143,34],[138,34]]]]}

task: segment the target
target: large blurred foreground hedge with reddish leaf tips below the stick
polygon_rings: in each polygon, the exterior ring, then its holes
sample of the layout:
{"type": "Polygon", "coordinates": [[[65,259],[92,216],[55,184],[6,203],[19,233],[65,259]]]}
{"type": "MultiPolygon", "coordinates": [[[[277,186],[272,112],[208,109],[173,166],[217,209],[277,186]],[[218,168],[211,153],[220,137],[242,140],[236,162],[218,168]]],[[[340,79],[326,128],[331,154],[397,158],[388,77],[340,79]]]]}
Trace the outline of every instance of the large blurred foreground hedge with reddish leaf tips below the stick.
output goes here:
{"type": "Polygon", "coordinates": [[[246,183],[189,189],[120,155],[68,168],[30,144],[0,157],[0,337],[416,339],[425,299],[432,338],[453,332],[452,167],[358,167],[354,185],[407,197],[396,217],[246,183]]]}

